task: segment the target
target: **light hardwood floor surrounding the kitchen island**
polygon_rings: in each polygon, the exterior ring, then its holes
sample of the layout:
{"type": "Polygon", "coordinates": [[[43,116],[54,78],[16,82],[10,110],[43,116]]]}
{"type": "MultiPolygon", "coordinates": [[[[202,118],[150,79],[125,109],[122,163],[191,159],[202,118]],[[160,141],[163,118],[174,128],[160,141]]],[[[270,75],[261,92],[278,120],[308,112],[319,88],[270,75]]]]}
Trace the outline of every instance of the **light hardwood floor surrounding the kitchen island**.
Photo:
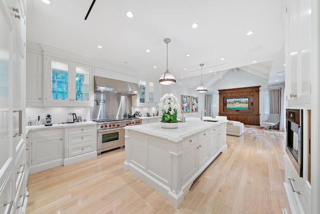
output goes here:
{"type": "Polygon", "coordinates": [[[124,148],[29,176],[27,213],[282,213],[284,132],[227,135],[183,203],[124,171],[124,148]]]}

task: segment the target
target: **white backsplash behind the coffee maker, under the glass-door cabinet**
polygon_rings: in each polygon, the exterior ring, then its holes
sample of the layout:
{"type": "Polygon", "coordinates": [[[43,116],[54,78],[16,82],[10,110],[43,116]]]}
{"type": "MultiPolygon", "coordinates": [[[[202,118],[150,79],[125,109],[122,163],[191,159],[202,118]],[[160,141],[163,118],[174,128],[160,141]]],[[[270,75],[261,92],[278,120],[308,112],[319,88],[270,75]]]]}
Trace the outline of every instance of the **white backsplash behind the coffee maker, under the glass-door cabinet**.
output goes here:
{"type": "Polygon", "coordinates": [[[27,123],[29,119],[37,120],[38,116],[40,116],[39,124],[44,124],[45,115],[49,113],[51,114],[52,123],[65,122],[68,112],[81,116],[82,121],[83,119],[90,120],[90,107],[26,107],[25,121],[27,123]]]}

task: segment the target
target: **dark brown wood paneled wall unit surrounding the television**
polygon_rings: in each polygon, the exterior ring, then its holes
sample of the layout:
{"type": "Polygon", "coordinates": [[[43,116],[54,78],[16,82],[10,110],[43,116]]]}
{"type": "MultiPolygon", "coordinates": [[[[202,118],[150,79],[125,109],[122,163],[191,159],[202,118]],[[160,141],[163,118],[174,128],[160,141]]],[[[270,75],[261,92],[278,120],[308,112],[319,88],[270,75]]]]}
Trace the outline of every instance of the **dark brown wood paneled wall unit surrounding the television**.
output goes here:
{"type": "Polygon", "coordinates": [[[260,125],[259,87],[240,87],[219,90],[219,115],[248,125],[260,125]],[[226,109],[226,98],[249,98],[248,110],[226,109]]]}

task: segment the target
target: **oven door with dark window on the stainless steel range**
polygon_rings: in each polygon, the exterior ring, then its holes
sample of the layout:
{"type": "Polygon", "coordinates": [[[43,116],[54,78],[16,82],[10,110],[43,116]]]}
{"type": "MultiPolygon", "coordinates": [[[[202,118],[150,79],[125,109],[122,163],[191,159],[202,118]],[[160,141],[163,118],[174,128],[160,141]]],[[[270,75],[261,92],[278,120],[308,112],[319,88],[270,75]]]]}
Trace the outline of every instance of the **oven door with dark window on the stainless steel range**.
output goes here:
{"type": "Polygon", "coordinates": [[[123,146],[124,141],[124,129],[114,128],[109,130],[98,130],[97,131],[97,153],[106,151],[108,149],[123,146]]]}

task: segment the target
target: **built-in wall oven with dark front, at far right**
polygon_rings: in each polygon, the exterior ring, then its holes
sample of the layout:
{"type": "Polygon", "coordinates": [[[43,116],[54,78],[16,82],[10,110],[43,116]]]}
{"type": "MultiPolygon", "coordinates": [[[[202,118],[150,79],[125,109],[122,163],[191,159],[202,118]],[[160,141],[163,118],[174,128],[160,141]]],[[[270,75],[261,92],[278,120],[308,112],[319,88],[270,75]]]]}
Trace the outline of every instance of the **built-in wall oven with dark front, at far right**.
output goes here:
{"type": "Polygon", "coordinates": [[[303,173],[302,113],[302,109],[286,109],[285,151],[300,177],[303,173]]]}

